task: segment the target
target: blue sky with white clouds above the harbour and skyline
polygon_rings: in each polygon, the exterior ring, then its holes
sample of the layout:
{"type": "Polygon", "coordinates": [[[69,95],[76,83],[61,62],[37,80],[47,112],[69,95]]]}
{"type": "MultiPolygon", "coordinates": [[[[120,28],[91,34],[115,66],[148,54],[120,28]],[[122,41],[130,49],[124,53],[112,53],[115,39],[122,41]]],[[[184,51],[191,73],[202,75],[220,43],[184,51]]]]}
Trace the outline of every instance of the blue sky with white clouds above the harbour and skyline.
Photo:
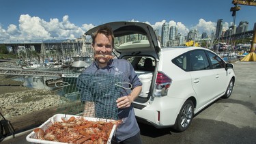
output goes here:
{"type": "MultiPolygon", "coordinates": [[[[198,29],[210,34],[222,18],[225,29],[231,26],[232,0],[1,0],[0,43],[5,40],[46,40],[79,38],[88,29],[112,21],[149,23],[160,29],[162,23],[177,25],[178,32],[198,29]]],[[[256,23],[256,7],[240,5],[236,25],[256,23]]]]}

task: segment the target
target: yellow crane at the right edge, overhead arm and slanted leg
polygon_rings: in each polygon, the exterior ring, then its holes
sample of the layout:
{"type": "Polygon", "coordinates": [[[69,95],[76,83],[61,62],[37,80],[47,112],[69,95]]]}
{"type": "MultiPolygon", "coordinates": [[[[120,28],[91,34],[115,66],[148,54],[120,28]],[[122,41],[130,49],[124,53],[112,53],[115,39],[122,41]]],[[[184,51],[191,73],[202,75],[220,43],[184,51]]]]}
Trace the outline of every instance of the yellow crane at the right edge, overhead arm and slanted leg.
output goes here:
{"type": "MultiPolygon", "coordinates": [[[[251,5],[256,6],[256,0],[233,0],[232,3],[235,5],[234,7],[231,7],[230,12],[232,12],[233,18],[233,24],[236,20],[236,11],[240,10],[240,6],[238,5],[251,5]]],[[[256,48],[256,27],[253,29],[253,40],[251,42],[251,49],[250,53],[246,55],[241,61],[256,61],[256,54],[255,54],[255,48],[256,48]]]]}

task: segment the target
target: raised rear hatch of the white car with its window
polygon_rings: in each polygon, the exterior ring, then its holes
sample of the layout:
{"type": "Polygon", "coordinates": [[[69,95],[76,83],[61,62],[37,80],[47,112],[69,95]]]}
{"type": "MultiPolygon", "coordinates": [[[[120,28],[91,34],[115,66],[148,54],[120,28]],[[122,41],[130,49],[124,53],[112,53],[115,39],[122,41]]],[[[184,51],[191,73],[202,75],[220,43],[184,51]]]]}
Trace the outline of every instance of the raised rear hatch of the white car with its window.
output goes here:
{"type": "MultiPolygon", "coordinates": [[[[113,53],[119,58],[132,55],[152,55],[158,59],[160,44],[156,38],[154,29],[146,23],[138,22],[112,22],[106,23],[113,29],[115,46],[113,53]]],[[[99,25],[100,27],[102,25],[99,25]]],[[[94,27],[85,33],[92,35],[98,27],[94,27]]]]}

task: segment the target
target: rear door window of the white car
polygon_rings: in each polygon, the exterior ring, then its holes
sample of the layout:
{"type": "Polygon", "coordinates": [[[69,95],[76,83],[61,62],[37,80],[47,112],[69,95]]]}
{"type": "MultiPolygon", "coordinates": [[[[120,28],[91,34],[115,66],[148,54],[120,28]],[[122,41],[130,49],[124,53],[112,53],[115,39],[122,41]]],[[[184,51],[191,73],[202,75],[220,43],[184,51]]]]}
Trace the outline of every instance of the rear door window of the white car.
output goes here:
{"type": "Polygon", "coordinates": [[[191,71],[210,69],[210,64],[204,51],[190,51],[188,54],[191,71]]]}

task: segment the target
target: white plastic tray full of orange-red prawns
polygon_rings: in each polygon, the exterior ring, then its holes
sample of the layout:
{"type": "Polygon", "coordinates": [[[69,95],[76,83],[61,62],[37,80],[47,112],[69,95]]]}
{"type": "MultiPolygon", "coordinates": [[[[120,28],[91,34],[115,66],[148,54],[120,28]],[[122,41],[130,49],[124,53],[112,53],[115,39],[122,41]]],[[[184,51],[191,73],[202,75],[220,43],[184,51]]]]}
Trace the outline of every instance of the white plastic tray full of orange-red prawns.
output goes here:
{"type": "Polygon", "coordinates": [[[31,143],[111,143],[120,120],[56,114],[27,135],[31,143]]]}

